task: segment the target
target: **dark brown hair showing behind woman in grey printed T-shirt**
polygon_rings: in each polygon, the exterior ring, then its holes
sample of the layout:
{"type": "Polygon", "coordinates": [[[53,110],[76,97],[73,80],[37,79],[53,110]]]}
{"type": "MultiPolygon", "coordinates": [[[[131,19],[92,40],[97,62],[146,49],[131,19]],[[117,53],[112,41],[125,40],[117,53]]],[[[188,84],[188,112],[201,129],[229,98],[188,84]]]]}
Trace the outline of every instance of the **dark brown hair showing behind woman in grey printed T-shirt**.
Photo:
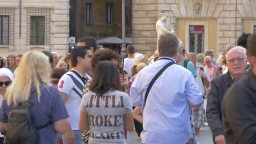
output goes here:
{"type": "Polygon", "coordinates": [[[110,49],[105,49],[104,51],[96,51],[91,58],[91,67],[94,71],[96,65],[99,61],[111,61],[112,59],[118,59],[117,53],[110,49]]]}

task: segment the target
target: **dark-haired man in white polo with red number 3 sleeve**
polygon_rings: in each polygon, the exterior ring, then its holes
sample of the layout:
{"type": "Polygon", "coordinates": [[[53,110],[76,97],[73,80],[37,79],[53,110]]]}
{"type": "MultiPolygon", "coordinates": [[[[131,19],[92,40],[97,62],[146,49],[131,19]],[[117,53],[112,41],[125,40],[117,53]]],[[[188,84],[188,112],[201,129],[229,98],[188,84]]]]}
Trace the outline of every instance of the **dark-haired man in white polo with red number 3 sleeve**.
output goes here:
{"type": "Polygon", "coordinates": [[[75,144],[82,144],[79,131],[80,103],[85,83],[91,79],[86,72],[91,70],[92,53],[88,47],[79,46],[71,51],[71,64],[74,66],[59,80],[58,88],[66,104],[69,114],[69,123],[73,133],[67,133],[64,142],[69,142],[75,137],[75,144]]]}

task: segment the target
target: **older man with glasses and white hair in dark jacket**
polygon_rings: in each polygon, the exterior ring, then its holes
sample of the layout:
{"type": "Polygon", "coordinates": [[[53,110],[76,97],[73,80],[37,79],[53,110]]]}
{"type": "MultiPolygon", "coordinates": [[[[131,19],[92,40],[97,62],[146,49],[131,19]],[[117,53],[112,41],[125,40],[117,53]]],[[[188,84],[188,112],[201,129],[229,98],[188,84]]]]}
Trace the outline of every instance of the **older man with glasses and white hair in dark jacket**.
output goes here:
{"type": "Polygon", "coordinates": [[[227,53],[227,67],[229,72],[216,77],[211,82],[211,90],[208,93],[206,117],[213,133],[215,144],[225,144],[223,135],[221,102],[228,88],[243,78],[246,67],[246,50],[243,47],[235,47],[227,53]]]}

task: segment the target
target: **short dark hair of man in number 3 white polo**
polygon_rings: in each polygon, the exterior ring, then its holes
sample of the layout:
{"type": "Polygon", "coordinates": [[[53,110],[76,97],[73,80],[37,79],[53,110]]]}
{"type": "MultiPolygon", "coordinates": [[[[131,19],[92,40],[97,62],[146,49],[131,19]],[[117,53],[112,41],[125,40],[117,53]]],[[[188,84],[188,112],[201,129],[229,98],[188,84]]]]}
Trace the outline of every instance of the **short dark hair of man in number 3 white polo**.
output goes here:
{"type": "Polygon", "coordinates": [[[78,46],[75,47],[71,50],[71,54],[70,54],[70,60],[71,60],[71,65],[72,67],[76,67],[77,66],[77,58],[81,57],[81,58],[85,58],[85,55],[87,54],[87,51],[89,51],[89,47],[87,46],[78,46]]]}

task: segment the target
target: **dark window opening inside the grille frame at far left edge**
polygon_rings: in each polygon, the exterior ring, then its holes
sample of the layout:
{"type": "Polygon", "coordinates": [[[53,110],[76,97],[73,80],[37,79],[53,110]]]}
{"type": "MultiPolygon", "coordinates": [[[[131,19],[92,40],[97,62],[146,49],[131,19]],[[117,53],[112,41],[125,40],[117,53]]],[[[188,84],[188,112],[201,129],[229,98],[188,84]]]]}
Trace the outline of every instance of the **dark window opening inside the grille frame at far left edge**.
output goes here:
{"type": "Polygon", "coordinates": [[[0,44],[9,44],[9,16],[0,16],[0,44]]]}

